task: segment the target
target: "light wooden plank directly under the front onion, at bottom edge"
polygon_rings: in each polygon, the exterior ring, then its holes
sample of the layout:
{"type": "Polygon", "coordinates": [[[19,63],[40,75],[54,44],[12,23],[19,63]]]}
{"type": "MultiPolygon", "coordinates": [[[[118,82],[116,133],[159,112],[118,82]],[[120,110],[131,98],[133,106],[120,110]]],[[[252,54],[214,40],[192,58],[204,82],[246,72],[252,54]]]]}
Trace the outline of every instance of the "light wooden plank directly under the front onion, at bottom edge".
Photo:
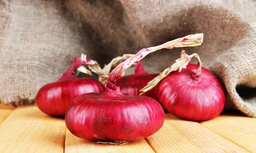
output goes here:
{"type": "Polygon", "coordinates": [[[128,144],[101,144],[74,136],[66,130],[65,153],[154,153],[145,139],[128,144]]]}

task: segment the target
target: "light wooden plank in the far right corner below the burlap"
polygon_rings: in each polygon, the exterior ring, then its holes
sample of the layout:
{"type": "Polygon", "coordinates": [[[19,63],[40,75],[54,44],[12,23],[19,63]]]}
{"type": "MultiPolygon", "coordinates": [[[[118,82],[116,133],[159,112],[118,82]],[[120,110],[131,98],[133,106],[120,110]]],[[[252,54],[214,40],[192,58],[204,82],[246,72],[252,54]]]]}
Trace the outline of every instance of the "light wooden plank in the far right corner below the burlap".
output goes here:
{"type": "Polygon", "coordinates": [[[201,124],[245,150],[256,153],[256,118],[221,114],[201,124]]]}

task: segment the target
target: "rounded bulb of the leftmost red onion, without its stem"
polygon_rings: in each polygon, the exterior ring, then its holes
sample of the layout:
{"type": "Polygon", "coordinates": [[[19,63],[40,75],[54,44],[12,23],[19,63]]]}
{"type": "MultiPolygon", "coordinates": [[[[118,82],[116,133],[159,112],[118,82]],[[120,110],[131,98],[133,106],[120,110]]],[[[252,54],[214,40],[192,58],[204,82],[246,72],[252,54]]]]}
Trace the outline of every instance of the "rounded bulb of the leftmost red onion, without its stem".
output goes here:
{"type": "Polygon", "coordinates": [[[71,100],[85,93],[104,93],[105,87],[97,79],[65,79],[44,85],[37,93],[38,108],[51,116],[64,116],[71,100]]]}

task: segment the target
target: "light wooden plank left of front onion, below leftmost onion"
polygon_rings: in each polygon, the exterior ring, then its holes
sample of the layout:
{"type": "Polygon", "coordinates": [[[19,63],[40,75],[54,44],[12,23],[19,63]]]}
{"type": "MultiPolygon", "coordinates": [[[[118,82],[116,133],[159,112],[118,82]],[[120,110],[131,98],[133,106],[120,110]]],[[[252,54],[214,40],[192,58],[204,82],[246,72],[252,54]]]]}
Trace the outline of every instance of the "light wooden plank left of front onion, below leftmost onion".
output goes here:
{"type": "Polygon", "coordinates": [[[64,119],[42,113],[37,106],[19,106],[0,125],[2,153],[63,153],[64,119]]]}

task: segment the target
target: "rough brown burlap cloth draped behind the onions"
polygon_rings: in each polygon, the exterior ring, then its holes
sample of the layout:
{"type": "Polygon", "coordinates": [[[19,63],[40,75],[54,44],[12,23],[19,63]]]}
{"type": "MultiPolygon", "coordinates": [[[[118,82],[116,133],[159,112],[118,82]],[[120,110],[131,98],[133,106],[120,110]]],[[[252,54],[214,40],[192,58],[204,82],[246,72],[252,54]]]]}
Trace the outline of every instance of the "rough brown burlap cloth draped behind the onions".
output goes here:
{"type": "Polygon", "coordinates": [[[225,109],[256,117],[252,0],[0,0],[0,101],[33,103],[38,89],[61,77],[81,53],[103,66],[196,33],[204,33],[201,46],[149,54],[142,60],[146,71],[172,65],[182,49],[198,53],[227,90],[225,109]]]}

